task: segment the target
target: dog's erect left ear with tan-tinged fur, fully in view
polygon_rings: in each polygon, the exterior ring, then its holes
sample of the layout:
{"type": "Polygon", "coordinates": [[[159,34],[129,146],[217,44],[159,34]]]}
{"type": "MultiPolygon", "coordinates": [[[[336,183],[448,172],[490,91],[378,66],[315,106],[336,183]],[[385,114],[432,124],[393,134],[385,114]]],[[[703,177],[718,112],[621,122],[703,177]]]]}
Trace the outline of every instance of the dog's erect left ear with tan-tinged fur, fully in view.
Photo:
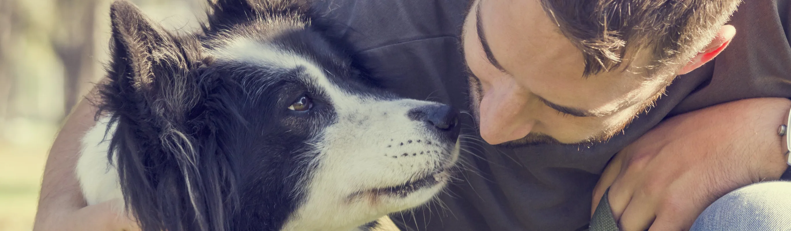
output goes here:
{"type": "MultiPolygon", "coordinates": [[[[199,45],[170,35],[126,0],[113,2],[112,74],[119,100],[138,99],[155,116],[184,114],[198,91],[190,69],[199,45]]],[[[138,106],[139,107],[139,106],[138,106]]],[[[139,109],[139,108],[138,108],[139,109]]]]}

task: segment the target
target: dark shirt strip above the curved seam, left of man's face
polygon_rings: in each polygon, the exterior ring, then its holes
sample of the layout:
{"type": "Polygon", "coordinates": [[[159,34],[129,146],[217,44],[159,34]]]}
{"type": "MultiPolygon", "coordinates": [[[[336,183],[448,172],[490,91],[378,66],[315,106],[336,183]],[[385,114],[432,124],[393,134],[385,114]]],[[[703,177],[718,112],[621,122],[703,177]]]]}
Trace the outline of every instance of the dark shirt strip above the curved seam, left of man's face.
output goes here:
{"type": "Polygon", "coordinates": [[[316,0],[312,8],[332,21],[355,51],[437,37],[455,37],[465,1],[316,0]]]}

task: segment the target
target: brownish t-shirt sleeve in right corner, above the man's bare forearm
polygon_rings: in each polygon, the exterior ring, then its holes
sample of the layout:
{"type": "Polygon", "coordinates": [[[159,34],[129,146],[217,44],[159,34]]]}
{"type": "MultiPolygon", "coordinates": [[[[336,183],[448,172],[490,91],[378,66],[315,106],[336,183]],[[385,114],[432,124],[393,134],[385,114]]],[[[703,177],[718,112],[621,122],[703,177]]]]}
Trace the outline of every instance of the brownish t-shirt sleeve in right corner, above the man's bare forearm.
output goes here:
{"type": "Polygon", "coordinates": [[[729,47],[712,62],[678,77],[697,86],[668,115],[738,99],[791,98],[789,7],[788,0],[742,3],[729,22],[736,28],[729,47]]]}

